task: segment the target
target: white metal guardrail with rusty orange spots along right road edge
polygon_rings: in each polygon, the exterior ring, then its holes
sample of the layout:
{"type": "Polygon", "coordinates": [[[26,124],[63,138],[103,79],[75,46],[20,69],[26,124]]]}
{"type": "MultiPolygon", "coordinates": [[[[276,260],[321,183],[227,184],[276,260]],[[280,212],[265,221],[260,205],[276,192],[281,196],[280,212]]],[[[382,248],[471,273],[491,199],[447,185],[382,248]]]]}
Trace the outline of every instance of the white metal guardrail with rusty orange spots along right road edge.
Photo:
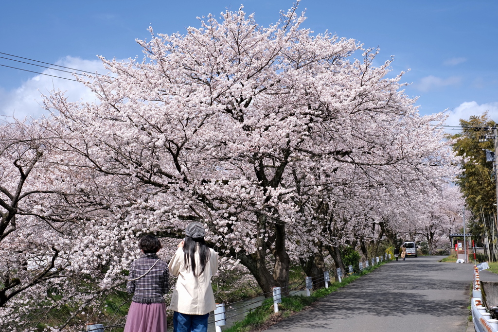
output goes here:
{"type": "Polygon", "coordinates": [[[475,266],[472,287],[472,321],[477,332],[498,332],[498,320],[492,319],[489,310],[484,306],[479,271],[489,268],[488,263],[475,266]]]}

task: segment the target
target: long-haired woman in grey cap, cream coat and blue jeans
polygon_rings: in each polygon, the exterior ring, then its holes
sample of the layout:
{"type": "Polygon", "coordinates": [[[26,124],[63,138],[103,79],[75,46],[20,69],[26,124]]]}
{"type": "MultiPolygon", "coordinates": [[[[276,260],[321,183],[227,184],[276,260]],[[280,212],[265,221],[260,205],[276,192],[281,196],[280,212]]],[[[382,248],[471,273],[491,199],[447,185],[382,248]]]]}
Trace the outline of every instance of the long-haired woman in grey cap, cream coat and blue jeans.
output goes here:
{"type": "Polygon", "coordinates": [[[206,332],[209,313],[216,309],[211,277],[218,272],[218,255],[206,246],[201,223],[190,223],[185,235],[168,265],[178,276],[169,306],[174,311],[173,330],[206,332]]]}

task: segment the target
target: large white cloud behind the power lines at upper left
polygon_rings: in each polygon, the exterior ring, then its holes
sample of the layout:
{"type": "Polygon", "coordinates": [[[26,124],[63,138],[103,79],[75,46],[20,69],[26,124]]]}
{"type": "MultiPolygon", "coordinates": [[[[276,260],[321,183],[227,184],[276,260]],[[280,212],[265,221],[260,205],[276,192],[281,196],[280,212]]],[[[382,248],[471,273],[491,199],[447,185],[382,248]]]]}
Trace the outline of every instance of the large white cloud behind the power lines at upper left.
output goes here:
{"type": "MultiPolygon", "coordinates": [[[[83,60],[80,58],[66,57],[56,63],[59,66],[76,68],[89,72],[107,73],[100,60],[83,60]]],[[[63,68],[61,68],[63,69],[63,68]]],[[[71,71],[70,69],[64,69],[71,71]]],[[[74,79],[69,73],[46,69],[44,74],[74,79]]],[[[42,109],[41,95],[48,95],[51,90],[60,89],[67,91],[69,101],[94,101],[93,93],[82,83],[68,81],[60,78],[36,75],[24,82],[19,88],[10,91],[0,90],[0,114],[24,118],[26,116],[39,117],[47,113],[42,109]]]]}

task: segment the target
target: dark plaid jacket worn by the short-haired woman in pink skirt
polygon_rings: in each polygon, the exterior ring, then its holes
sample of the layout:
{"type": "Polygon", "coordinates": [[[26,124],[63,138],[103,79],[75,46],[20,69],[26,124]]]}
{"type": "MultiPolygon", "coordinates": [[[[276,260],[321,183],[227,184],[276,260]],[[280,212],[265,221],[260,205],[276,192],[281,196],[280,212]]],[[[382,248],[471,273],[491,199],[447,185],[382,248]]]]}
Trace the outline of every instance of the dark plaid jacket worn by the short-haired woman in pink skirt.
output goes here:
{"type": "MultiPolygon", "coordinates": [[[[138,278],[146,273],[159,259],[156,254],[146,253],[133,261],[129,268],[128,279],[138,278]]],[[[162,303],[164,294],[169,290],[168,264],[159,260],[149,273],[138,280],[128,280],[126,291],[134,293],[131,301],[137,303],[162,303]]]]}

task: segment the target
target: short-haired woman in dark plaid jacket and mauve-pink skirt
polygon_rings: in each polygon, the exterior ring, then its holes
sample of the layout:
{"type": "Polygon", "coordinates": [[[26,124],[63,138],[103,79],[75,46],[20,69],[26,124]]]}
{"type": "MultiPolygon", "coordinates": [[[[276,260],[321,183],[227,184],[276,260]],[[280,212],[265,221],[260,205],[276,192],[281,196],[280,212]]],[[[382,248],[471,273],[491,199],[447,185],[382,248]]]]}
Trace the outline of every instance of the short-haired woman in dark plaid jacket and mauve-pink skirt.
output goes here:
{"type": "Polygon", "coordinates": [[[166,332],[164,294],[169,290],[168,265],[157,257],[161,242],[152,235],[140,238],[143,255],[129,268],[126,291],[133,293],[124,332],[166,332]]]}

